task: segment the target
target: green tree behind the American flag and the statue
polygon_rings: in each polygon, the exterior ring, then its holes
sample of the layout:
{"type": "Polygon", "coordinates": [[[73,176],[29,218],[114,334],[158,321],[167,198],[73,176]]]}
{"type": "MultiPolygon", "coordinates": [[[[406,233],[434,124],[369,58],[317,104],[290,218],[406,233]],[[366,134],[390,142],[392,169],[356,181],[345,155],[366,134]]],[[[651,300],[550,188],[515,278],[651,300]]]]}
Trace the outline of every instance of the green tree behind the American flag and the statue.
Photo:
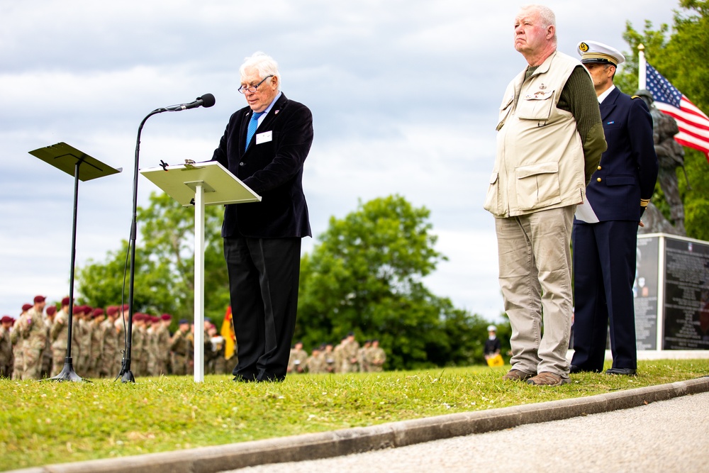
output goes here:
{"type": "MultiPolygon", "coordinates": [[[[638,33],[630,22],[626,23],[623,38],[630,45],[627,64],[617,83],[623,91],[632,94],[637,89],[637,45],[644,45],[645,57],[677,89],[705,113],[709,112],[709,1],[681,0],[680,10],[675,11],[674,25],[668,38],[668,26],[653,30],[652,23],[645,22],[644,31],[638,33]]],[[[685,168],[678,169],[680,194],[684,203],[687,235],[700,240],[709,240],[709,164],[706,156],[698,150],[684,148],[685,168]]],[[[664,196],[655,188],[654,204],[669,218],[669,208],[664,196]]]]}

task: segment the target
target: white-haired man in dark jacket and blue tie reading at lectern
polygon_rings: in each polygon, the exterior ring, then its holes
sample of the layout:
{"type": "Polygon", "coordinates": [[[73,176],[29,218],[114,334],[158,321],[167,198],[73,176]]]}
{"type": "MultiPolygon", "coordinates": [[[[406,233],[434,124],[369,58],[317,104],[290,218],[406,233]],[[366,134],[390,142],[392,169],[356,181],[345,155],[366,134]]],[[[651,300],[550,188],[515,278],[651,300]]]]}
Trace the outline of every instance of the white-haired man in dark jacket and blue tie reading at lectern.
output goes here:
{"type": "Polygon", "coordinates": [[[313,143],[308,107],[286,99],[272,57],[256,52],[240,67],[247,106],[233,113],[212,160],[262,196],[225,206],[222,237],[238,382],[282,381],[298,306],[301,238],[311,236],[303,162],[313,143]]]}

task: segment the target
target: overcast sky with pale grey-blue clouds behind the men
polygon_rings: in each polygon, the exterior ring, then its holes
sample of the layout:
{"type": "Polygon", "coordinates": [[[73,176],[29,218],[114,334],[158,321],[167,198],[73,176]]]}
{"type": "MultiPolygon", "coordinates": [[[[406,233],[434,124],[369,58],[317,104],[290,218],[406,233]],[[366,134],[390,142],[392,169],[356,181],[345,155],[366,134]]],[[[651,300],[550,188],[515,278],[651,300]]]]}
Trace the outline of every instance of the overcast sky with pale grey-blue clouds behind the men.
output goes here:
{"type": "MultiPolygon", "coordinates": [[[[0,0],[0,315],[17,316],[36,294],[69,294],[73,178],[28,151],[63,141],[123,167],[79,187],[77,267],[103,261],[128,239],[140,121],[214,94],[211,108],[150,118],[140,145],[140,168],[209,159],[245,106],[238,67],[262,50],[279,62],[284,94],[313,111],[303,186],[314,235],[359,199],[401,194],[430,209],[437,250],[449,258],[428,287],[497,318],[496,238],[482,204],[501,96],[526,65],[513,20],[527,3],[0,0]]],[[[637,30],[645,20],[671,24],[677,8],[546,5],[559,50],[571,55],[581,40],[627,51],[626,21],[637,30]]],[[[142,176],[138,189],[141,205],[158,190],[142,176]]],[[[306,238],[303,251],[316,243],[306,238]]]]}

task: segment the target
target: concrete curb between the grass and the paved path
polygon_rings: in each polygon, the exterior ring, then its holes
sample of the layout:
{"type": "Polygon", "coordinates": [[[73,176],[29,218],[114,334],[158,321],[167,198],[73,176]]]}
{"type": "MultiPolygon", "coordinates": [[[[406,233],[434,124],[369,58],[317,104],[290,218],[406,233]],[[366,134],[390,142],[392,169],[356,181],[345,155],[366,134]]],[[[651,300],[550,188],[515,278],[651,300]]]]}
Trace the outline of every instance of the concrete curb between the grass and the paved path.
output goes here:
{"type": "Polygon", "coordinates": [[[200,447],[177,452],[13,470],[15,473],[216,473],[257,464],[300,462],[403,447],[518,425],[618,411],[709,391],[709,377],[577,399],[465,412],[371,427],[200,447]]]}

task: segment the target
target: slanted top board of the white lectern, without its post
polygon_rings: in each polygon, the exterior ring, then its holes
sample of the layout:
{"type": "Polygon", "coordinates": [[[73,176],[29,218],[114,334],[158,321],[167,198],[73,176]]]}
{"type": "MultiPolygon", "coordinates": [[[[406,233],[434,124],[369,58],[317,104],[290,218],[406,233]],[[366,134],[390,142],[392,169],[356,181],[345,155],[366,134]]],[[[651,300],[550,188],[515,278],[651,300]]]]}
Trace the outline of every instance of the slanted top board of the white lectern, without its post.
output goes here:
{"type": "Polygon", "coordinates": [[[261,196],[252,191],[238,177],[216,161],[196,162],[194,165],[168,166],[141,169],[140,174],[160,187],[182,206],[192,206],[194,183],[203,186],[205,205],[259,202],[261,196]]]}

